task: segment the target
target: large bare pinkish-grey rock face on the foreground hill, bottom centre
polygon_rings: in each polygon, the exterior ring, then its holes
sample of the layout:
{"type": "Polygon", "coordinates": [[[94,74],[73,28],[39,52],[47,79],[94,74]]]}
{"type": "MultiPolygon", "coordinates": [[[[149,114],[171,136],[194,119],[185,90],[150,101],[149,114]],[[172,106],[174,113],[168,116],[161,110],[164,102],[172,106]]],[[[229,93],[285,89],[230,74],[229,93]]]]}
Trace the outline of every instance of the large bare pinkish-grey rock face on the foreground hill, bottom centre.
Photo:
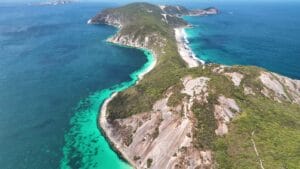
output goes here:
{"type": "Polygon", "coordinates": [[[136,168],[210,168],[212,152],[193,146],[193,100],[206,102],[209,78],[186,77],[185,98],[176,107],[167,105],[172,93],[158,100],[151,112],[118,119],[108,124],[109,135],[136,168]],[[149,160],[151,165],[149,166],[149,160]]]}

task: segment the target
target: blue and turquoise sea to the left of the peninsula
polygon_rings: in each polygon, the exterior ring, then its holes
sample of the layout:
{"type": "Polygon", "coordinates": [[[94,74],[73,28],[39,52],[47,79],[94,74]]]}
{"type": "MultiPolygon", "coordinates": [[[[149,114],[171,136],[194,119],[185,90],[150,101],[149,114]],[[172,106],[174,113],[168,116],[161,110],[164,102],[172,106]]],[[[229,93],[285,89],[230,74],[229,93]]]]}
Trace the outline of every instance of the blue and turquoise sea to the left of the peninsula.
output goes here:
{"type": "Polygon", "coordinates": [[[105,42],[115,28],[86,24],[112,6],[0,5],[1,169],[129,168],[97,116],[153,58],[105,42]]]}

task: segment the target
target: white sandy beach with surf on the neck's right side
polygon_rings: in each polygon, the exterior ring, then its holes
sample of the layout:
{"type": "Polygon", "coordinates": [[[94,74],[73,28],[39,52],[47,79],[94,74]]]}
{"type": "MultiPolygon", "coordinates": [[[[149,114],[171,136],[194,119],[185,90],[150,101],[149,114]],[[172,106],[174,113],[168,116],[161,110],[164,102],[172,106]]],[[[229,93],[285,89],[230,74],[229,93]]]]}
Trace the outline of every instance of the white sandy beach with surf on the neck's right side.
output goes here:
{"type": "Polygon", "coordinates": [[[189,68],[198,67],[205,62],[196,57],[192,49],[188,46],[187,35],[184,27],[175,28],[175,38],[177,41],[178,52],[181,58],[187,63],[189,68]]]}

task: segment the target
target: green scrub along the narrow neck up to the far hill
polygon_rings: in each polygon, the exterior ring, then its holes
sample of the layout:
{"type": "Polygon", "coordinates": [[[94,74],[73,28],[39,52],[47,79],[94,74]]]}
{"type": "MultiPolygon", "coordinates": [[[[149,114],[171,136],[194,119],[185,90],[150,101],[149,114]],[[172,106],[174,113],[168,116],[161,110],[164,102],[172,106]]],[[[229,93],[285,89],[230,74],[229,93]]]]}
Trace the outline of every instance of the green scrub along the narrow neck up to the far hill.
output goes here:
{"type": "Polygon", "coordinates": [[[173,27],[161,21],[162,16],[157,6],[141,3],[116,10],[124,13],[124,16],[130,15],[130,21],[120,30],[121,35],[133,34],[132,37],[144,38],[157,34],[159,40],[156,42],[162,42],[165,46],[161,48],[158,43],[150,44],[151,50],[159,56],[157,64],[138,85],[119,93],[110,102],[108,112],[112,120],[151,110],[153,103],[163,96],[166,89],[178,83],[180,74],[185,69],[185,63],[177,51],[173,27]],[[152,12],[147,12],[149,10],[152,12]]]}

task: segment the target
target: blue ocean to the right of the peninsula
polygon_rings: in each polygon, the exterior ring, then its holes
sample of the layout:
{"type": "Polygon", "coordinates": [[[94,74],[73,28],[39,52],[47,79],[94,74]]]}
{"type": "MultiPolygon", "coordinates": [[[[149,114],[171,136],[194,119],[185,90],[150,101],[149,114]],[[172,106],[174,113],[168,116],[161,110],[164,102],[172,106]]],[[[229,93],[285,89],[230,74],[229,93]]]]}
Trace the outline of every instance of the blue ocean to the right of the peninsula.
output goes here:
{"type": "MultiPolygon", "coordinates": [[[[187,4],[189,5],[189,4],[187,4]]],[[[255,65],[300,79],[300,3],[235,2],[215,6],[221,13],[185,17],[195,54],[211,63],[255,65]]]]}

